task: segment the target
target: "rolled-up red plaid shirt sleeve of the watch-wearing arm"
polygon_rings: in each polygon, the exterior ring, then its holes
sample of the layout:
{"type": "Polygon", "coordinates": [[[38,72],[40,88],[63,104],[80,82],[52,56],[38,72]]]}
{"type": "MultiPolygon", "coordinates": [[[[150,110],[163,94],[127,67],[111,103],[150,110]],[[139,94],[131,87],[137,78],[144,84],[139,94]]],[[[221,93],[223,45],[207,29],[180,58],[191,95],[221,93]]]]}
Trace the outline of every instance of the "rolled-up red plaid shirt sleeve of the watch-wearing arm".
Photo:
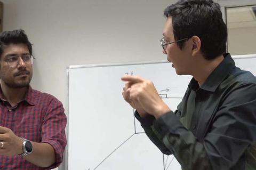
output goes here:
{"type": "Polygon", "coordinates": [[[57,99],[51,100],[42,125],[42,143],[49,143],[55,151],[55,163],[48,168],[56,168],[63,159],[67,139],[65,127],[67,117],[62,103],[57,99]]]}

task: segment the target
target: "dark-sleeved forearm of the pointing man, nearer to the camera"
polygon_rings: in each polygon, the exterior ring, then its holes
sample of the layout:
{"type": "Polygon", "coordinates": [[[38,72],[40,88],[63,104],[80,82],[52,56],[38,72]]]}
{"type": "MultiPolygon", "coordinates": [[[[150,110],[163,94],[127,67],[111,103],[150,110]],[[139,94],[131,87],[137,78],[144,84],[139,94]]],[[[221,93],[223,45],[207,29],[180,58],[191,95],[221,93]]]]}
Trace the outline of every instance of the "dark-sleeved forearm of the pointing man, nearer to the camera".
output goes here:
{"type": "Polygon", "coordinates": [[[173,112],[166,113],[151,128],[184,169],[212,169],[204,144],[197,141],[173,112]]]}

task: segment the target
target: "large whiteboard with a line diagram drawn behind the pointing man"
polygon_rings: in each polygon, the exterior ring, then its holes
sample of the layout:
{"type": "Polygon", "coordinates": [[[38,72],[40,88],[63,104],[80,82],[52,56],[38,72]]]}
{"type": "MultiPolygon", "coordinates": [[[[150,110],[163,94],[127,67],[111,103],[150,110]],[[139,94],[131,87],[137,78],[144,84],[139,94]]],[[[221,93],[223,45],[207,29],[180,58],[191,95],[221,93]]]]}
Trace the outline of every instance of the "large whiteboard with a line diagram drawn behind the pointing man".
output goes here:
{"type": "MultiPolygon", "coordinates": [[[[256,75],[256,55],[234,56],[236,65],[256,75]]],[[[191,76],[178,76],[167,61],[70,66],[66,169],[181,169],[148,139],[134,110],[122,97],[125,74],[152,80],[172,110],[191,76]]]]}

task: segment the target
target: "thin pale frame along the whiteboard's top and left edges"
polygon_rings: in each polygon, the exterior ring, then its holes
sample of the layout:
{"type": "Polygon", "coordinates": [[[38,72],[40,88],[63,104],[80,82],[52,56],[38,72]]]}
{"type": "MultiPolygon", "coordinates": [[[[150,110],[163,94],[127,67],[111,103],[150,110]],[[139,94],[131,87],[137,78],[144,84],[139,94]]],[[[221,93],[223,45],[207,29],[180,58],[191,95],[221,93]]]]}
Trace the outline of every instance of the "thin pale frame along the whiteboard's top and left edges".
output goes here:
{"type": "MultiPolygon", "coordinates": [[[[251,59],[256,58],[256,54],[247,54],[247,55],[233,55],[234,60],[239,59],[251,59]]],[[[67,67],[67,106],[66,106],[66,115],[67,115],[67,126],[66,126],[66,136],[67,141],[69,139],[68,129],[69,129],[69,70],[79,69],[79,68],[93,68],[93,67],[110,67],[110,66],[128,66],[128,65],[138,65],[138,64],[155,64],[155,63],[171,63],[167,60],[158,60],[158,61],[140,61],[140,62],[122,62],[122,63],[106,63],[106,64],[82,64],[82,65],[72,65],[67,67]]],[[[171,67],[171,65],[170,65],[171,67]]],[[[68,144],[66,146],[62,166],[59,167],[60,170],[68,170],[68,144]]]]}

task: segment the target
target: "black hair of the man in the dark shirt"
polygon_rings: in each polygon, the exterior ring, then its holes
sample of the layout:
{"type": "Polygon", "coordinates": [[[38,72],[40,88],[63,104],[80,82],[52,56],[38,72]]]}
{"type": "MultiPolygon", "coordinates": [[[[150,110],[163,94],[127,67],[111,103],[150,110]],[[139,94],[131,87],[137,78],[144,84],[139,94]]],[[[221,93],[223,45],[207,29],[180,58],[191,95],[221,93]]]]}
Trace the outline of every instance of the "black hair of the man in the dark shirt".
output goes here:
{"type": "MultiPolygon", "coordinates": [[[[180,0],[168,6],[164,15],[172,17],[175,41],[198,36],[201,52],[207,60],[226,53],[227,26],[218,3],[212,0],[180,0]]],[[[177,43],[181,50],[184,43],[177,43]]]]}

